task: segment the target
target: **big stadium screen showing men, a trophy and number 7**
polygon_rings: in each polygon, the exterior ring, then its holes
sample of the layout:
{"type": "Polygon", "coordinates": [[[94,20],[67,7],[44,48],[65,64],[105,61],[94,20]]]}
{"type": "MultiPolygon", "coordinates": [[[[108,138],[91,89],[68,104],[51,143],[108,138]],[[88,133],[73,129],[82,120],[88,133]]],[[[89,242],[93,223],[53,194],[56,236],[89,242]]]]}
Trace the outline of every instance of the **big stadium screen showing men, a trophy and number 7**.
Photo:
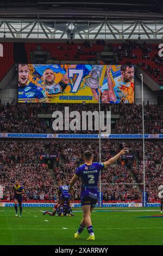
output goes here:
{"type": "Polygon", "coordinates": [[[134,103],[133,65],[18,65],[18,102],[134,103]]]}

